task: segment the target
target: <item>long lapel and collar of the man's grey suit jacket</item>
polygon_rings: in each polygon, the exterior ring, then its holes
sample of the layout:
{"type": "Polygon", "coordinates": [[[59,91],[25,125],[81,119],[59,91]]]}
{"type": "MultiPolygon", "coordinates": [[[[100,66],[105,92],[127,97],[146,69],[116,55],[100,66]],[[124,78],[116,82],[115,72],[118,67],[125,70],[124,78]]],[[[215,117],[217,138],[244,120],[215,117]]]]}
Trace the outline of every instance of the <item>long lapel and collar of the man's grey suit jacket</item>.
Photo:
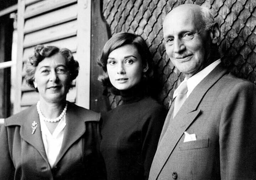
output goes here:
{"type": "MultiPolygon", "coordinates": [[[[151,165],[150,180],[158,178],[158,175],[184,131],[186,131],[190,124],[200,116],[201,109],[198,109],[198,106],[204,95],[225,73],[226,69],[222,67],[222,64],[219,64],[191,92],[174,119],[169,119],[167,116],[168,119],[166,118],[165,121],[171,122],[169,122],[166,133],[161,135],[162,139],[159,142],[159,146],[151,165]]],[[[169,112],[168,114],[172,114],[172,112],[169,112]]]]}

